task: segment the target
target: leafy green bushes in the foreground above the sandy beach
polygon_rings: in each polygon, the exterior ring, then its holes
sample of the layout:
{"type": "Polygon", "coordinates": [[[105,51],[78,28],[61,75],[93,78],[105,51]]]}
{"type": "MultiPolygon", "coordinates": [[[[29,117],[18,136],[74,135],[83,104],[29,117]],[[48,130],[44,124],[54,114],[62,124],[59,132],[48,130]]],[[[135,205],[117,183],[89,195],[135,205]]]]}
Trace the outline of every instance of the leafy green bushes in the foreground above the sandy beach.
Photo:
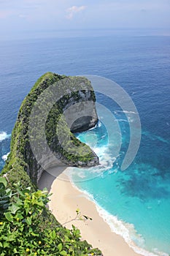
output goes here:
{"type": "Polygon", "coordinates": [[[0,178],[0,255],[101,255],[80,241],[80,230],[62,227],[46,208],[47,190],[31,192],[0,178]]]}

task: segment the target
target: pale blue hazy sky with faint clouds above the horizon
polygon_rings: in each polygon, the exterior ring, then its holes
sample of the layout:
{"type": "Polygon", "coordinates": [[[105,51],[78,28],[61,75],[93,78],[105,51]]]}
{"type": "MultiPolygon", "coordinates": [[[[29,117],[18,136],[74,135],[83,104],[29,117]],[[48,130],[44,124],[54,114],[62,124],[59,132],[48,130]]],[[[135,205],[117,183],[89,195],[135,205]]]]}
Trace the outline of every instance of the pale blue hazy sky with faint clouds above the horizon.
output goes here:
{"type": "Polygon", "coordinates": [[[75,29],[158,29],[170,34],[170,0],[0,0],[1,39],[75,29]]]}

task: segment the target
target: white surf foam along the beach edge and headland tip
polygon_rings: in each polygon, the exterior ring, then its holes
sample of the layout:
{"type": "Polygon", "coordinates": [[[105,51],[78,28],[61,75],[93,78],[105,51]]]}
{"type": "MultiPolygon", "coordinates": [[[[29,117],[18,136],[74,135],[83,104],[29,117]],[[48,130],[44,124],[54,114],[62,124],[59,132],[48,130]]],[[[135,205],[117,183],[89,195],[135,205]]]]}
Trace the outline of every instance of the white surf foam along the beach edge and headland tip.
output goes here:
{"type": "MultiPolygon", "coordinates": [[[[123,119],[123,121],[128,121],[128,120],[123,119]]],[[[74,175],[79,176],[81,181],[81,178],[82,180],[85,180],[86,175],[87,175],[86,180],[89,180],[89,179],[95,178],[96,176],[102,177],[105,171],[107,171],[108,174],[112,174],[112,172],[115,172],[115,173],[117,172],[117,169],[115,169],[114,171],[112,170],[112,164],[115,161],[115,157],[113,156],[113,152],[109,151],[108,145],[96,147],[96,148],[94,147],[93,151],[95,151],[96,154],[98,155],[100,165],[96,167],[88,168],[88,171],[86,170],[86,173],[84,173],[84,170],[80,170],[78,172],[77,170],[74,170],[74,173],[69,173],[69,176],[71,177],[72,181],[75,182],[75,179],[72,178],[74,175]]],[[[123,152],[121,154],[123,154],[123,152]]],[[[77,179],[77,181],[79,180],[77,179]]],[[[73,185],[74,187],[76,187],[74,183],[73,185]]],[[[88,192],[85,192],[85,191],[81,191],[81,192],[84,192],[85,197],[88,197],[89,200],[92,200],[94,203],[96,203],[95,200],[93,199],[93,196],[89,195],[88,192]]],[[[112,232],[117,233],[117,235],[119,236],[122,236],[125,242],[128,244],[128,246],[133,248],[136,253],[139,253],[140,255],[144,255],[144,256],[168,256],[166,253],[158,252],[157,249],[152,249],[152,252],[147,252],[146,249],[143,249],[144,238],[136,232],[133,224],[123,222],[117,217],[112,216],[112,214],[109,214],[107,211],[104,210],[104,208],[101,208],[100,206],[98,206],[97,203],[96,203],[96,208],[97,208],[98,214],[104,219],[105,222],[107,222],[112,232]]]]}

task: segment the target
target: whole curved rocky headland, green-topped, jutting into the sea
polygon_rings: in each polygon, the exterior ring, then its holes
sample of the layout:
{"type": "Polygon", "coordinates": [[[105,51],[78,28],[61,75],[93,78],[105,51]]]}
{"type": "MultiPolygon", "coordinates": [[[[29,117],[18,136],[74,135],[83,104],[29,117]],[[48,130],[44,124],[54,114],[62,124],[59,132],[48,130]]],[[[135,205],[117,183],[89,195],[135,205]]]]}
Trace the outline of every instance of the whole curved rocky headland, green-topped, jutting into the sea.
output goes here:
{"type": "Polygon", "coordinates": [[[50,72],[39,78],[20,107],[4,170],[26,171],[36,183],[43,170],[55,165],[98,165],[97,155],[72,133],[96,125],[95,100],[86,78],[50,72]]]}

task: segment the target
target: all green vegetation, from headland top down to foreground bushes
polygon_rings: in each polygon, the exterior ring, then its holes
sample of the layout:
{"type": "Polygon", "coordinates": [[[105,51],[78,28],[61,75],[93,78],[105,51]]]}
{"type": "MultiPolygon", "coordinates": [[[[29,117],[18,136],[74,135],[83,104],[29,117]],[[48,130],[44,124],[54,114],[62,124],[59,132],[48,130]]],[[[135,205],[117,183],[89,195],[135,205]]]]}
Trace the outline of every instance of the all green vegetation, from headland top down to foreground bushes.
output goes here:
{"type": "MultiPolygon", "coordinates": [[[[81,97],[80,92],[86,95],[90,91],[88,100],[94,102],[93,89],[86,78],[67,78],[65,80],[67,83],[63,83],[65,78],[65,75],[47,72],[37,80],[20,107],[12,131],[10,154],[0,177],[1,256],[101,255],[101,252],[98,249],[92,249],[87,241],[81,241],[80,230],[74,226],[72,230],[67,230],[58,223],[46,207],[47,192],[37,190],[36,187],[38,172],[42,167],[32,152],[28,130],[31,111],[36,106],[39,96],[50,86],[53,86],[54,89],[52,97],[53,94],[60,94],[63,91],[63,86],[65,86],[65,90],[68,89],[68,94],[60,97],[53,108],[50,107],[47,120],[45,119],[45,135],[50,151],[53,151],[55,157],[67,165],[85,166],[89,162],[91,165],[98,164],[96,154],[74,137],[63,116],[63,109],[67,104],[86,100],[81,97]],[[77,88],[77,84],[80,86],[79,90],[70,90],[77,88]],[[58,125],[58,121],[60,125],[58,125]],[[58,134],[61,135],[61,139],[66,138],[63,144],[58,140],[58,134]],[[80,150],[79,154],[75,154],[73,146],[76,146],[78,151],[80,150]],[[85,154],[81,154],[82,146],[82,153],[85,154]]],[[[48,98],[50,95],[46,96],[48,98]]],[[[45,108],[48,103],[45,100],[45,108]]],[[[43,113],[45,110],[43,104],[39,110],[43,113]]],[[[35,124],[37,120],[39,121],[36,118],[37,116],[33,116],[31,120],[35,121],[35,124]]],[[[35,125],[34,132],[35,136],[42,134],[41,121],[39,125],[35,125]]],[[[36,137],[34,139],[37,140],[36,137]]],[[[37,146],[41,148],[43,144],[37,146]]]]}

